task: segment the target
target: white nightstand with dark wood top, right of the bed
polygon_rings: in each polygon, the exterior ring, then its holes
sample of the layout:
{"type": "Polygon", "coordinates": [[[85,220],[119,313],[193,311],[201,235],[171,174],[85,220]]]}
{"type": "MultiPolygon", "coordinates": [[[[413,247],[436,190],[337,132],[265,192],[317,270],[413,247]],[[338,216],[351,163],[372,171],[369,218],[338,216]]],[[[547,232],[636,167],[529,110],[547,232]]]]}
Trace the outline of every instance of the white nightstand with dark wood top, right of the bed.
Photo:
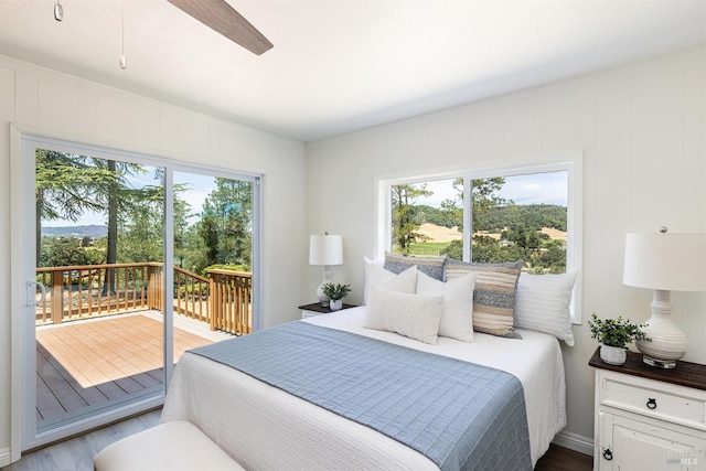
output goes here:
{"type": "Polygon", "coordinates": [[[599,350],[588,364],[596,368],[595,470],[706,469],[706,365],[661,370],[628,352],[616,366],[599,350]]]}

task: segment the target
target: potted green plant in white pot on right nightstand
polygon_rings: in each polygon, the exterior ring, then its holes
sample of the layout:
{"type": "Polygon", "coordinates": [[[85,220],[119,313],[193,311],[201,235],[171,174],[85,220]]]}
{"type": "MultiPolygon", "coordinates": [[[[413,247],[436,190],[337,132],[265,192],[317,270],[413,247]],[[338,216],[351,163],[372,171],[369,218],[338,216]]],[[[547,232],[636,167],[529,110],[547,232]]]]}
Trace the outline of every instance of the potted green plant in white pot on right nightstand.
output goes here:
{"type": "Polygon", "coordinates": [[[610,365],[625,363],[628,344],[633,340],[651,340],[642,330],[646,327],[645,324],[633,324],[622,317],[601,320],[596,312],[591,319],[592,321],[588,321],[591,339],[601,343],[600,358],[610,365]]]}

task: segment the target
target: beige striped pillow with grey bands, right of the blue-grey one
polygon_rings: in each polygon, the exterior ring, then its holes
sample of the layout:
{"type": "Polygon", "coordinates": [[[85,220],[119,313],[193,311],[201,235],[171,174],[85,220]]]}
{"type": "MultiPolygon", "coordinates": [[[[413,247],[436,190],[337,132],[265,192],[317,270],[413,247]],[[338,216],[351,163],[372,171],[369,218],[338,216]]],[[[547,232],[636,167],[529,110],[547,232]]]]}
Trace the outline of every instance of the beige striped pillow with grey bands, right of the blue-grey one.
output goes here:
{"type": "Polygon", "coordinates": [[[452,258],[447,260],[447,280],[478,274],[473,290],[475,332],[522,339],[513,325],[517,278],[523,264],[523,260],[505,264],[472,264],[452,258]]]}

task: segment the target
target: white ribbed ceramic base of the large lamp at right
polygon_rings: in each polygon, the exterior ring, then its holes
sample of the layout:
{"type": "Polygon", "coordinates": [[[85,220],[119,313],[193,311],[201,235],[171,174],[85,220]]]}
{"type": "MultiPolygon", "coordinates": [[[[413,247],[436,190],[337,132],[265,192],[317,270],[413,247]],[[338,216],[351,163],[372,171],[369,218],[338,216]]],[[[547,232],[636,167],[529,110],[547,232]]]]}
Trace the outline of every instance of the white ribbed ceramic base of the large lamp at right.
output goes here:
{"type": "Polygon", "coordinates": [[[660,368],[674,368],[676,361],[686,354],[688,339],[672,322],[672,303],[670,291],[654,290],[652,299],[652,317],[648,320],[644,332],[651,341],[635,342],[642,353],[642,361],[660,368]]]}

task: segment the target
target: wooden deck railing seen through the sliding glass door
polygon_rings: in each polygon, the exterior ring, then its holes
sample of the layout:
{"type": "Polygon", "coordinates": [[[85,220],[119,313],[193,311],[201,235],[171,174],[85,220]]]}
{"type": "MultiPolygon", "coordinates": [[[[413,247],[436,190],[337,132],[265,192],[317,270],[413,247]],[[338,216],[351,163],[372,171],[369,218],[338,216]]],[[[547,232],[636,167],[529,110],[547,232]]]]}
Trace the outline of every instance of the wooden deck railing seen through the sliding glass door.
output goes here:
{"type": "MultiPolygon", "coordinates": [[[[36,324],[162,310],[162,264],[105,264],[44,267],[36,279],[46,296],[36,307],[36,324]]],[[[252,332],[252,275],[208,270],[210,278],[174,267],[174,312],[234,334],[252,332]]],[[[39,297],[38,297],[39,299],[39,297]]]]}

